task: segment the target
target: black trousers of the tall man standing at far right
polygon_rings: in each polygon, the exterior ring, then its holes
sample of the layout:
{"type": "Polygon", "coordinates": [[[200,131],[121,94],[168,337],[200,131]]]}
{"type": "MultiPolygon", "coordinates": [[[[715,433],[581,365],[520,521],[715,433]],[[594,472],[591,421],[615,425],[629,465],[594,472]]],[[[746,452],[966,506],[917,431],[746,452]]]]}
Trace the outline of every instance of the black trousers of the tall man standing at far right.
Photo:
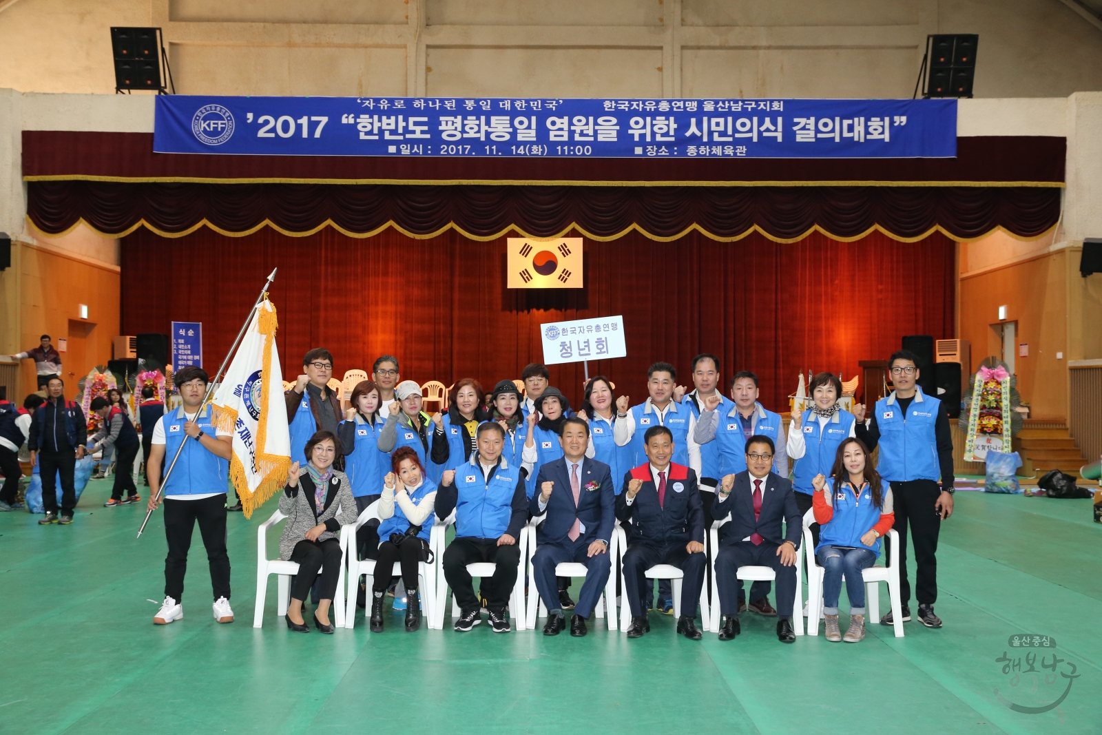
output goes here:
{"type": "MultiPolygon", "coordinates": [[[[941,488],[932,479],[912,479],[892,483],[895,502],[895,530],[899,533],[899,595],[903,604],[910,601],[910,581],[907,579],[907,530],[910,528],[915,544],[915,596],[919,605],[932,605],[938,599],[938,534],[941,533],[941,514],[934,507],[941,488]]],[[[888,539],[884,539],[889,543],[888,539]]]]}

